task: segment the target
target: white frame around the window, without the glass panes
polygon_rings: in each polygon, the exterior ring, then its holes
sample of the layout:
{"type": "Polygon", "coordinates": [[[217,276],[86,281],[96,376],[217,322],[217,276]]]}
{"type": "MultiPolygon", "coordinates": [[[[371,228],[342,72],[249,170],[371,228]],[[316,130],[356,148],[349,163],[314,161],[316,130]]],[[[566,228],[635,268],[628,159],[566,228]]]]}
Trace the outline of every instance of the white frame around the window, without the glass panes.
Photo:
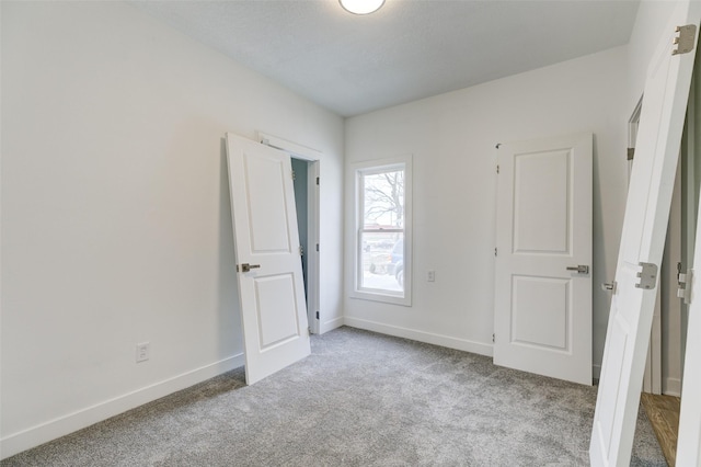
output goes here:
{"type": "MultiPolygon", "coordinates": [[[[393,305],[410,307],[412,305],[412,157],[401,156],[391,159],[380,159],[365,162],[357,162],[350,166],[355,180],[354,205],[355,205],[355,235],[354,235],[354,262],[353,262],[353,287],[350,298],[382,301],[393,305]],[[404,170],[404,292],[392,293],[391,291],[364,288],[360,286],[363,275],[363,251],[361,235],[365,231],[363,213],[363,176],[390,171],[393,169],[404,170]]],[[[401,231],[401,230],[384,230],[401,231]]]]}

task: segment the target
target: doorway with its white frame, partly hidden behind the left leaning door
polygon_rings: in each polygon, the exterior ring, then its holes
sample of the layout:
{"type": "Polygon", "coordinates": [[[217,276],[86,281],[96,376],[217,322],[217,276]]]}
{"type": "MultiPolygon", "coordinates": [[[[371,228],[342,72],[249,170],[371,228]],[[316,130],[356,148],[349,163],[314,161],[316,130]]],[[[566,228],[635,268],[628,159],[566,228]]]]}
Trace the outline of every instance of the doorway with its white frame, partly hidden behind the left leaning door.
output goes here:
{"type": "Polygon", "coordinates": [[[309,322],[309,331],[312,334],[319,334],[321,332],[319,274],[321,152],[262,132],[258,132],[257,139],[266,146],[289,153],[291,157],[297,226],[307,298],[307,321],[309,322]]]}

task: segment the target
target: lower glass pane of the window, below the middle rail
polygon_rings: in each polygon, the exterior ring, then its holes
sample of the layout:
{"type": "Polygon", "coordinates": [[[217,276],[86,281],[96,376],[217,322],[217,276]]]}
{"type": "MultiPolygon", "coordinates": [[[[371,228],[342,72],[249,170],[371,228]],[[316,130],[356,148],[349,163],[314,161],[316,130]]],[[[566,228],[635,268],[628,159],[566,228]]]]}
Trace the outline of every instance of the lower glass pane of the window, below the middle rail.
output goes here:
{"type": "Polygon", "coordinates": [[[404,234],[363,232],[360,288],[404,292],[404,234]]]}

